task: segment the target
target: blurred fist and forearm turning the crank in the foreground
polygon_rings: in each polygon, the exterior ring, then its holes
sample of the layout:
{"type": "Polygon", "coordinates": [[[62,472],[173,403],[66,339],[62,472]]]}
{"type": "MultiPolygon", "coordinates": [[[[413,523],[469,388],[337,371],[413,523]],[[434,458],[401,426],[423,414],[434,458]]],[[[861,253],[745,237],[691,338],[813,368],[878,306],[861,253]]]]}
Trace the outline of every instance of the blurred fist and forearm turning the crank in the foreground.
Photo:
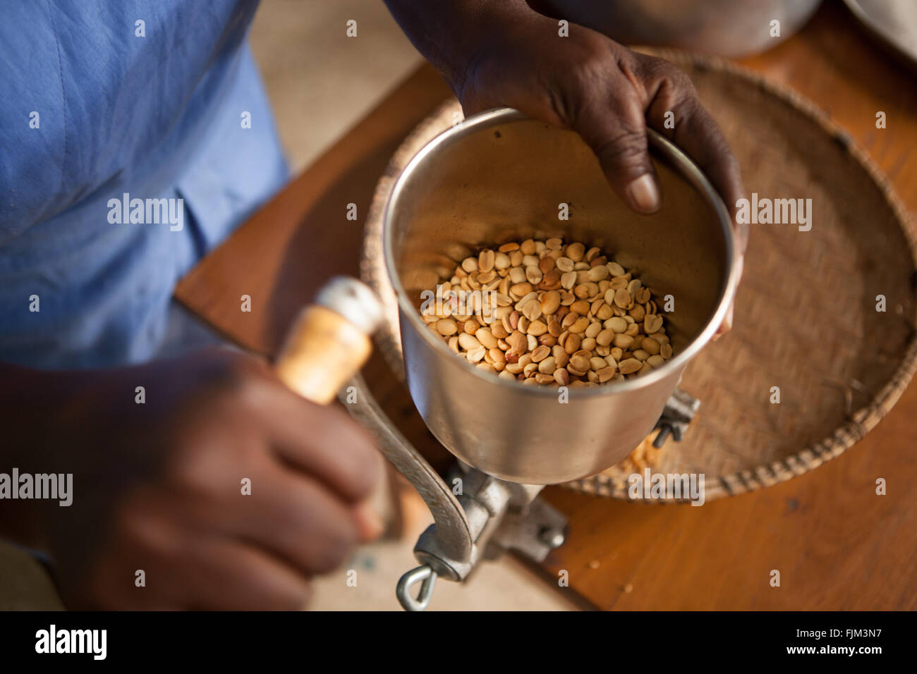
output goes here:
{"type": "Polygon", "coordinates": [[[28,396],[2,401],[13,465],[73,473],[72,505],[30,503],[18,537],[50,553],[68,607],[299,609],[311,576],[381,533],[363,503],[381,469],[369,437],[257,359],[18,377],[28,396]]]}

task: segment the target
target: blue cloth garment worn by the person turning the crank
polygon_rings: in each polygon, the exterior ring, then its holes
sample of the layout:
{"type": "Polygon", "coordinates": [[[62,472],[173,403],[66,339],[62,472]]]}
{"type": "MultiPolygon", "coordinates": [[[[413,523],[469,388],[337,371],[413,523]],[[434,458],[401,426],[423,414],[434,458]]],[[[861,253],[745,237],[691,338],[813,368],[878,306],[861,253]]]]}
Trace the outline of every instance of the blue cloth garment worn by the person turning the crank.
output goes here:
{"type": "Polygon", "coordinates": [[[0,361],[149,359],[175,282],[287,180],[257,4],[4,3],[0,361]]]}

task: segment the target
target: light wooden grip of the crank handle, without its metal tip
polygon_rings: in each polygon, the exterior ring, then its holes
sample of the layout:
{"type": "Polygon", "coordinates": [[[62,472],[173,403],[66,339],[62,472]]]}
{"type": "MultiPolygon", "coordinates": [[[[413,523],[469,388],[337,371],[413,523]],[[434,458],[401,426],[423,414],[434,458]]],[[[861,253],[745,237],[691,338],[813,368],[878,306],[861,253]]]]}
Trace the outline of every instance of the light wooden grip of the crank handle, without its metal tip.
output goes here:
{"type": "Polygon", "coordinates": [[[328,404],[371,352],[372,342],[363,330],[315,304],[296,319],[275,369],[293,391],[313,403],[328,404]]]}

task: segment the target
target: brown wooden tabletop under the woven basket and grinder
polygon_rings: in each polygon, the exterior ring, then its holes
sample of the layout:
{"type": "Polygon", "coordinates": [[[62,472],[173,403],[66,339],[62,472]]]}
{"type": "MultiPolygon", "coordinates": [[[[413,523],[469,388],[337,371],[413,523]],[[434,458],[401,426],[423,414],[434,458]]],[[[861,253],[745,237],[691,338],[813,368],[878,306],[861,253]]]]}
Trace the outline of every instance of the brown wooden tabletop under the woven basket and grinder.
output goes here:
{"type": "MultiPolygon", "coordinates": [[[[800,34],[743,61],[820,105],[872,155],[917,212],[917,86],[825,3],[800,34]],[[888,128],[875,127],[884,111],[888,128]]],[[[361,222],[394,149],[448,95],[420,68],[176,290],[226,337],[272,354],[298,307],[333,273],[357,273],[361,222]],[[348,221],[348,204],[359,220],[348,221]],[[239,311],[249,294],[252,312],[239,311]]],[[[400,385],[376,360],[374,391],[418,446],[430,447],[400,385]]],[[[567,543],[541,565],[549,582],[602,609],[917,609],[917,386],[856,447],[818,470],[701,508],[645,505],[560,488],[567,543]],[[876,479],[888,495],[876,494],[876,479]],[[779,588],[769,584],[779,569],[779,588]]],[[[442,454],[442,453],[441,453],[442,454]]],[[[443,460],[443,456],[438,458],[443,460]]]]}

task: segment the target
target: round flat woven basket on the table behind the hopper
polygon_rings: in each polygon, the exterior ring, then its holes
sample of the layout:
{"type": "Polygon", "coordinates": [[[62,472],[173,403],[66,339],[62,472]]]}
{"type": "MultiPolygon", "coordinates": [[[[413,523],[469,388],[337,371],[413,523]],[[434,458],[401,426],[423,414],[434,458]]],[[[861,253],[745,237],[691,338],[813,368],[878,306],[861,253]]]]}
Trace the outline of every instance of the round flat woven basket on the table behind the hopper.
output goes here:
{"type": "MultiPolygon", "coordinates": [[[[747,193],[812,199],[811,231],[750,226],[733,330],[704,348],[680,384],[701,409],[684,441],[669,440],[651,466],[704,473],[711,500],[817,468],[897,402],[917,369],[917,242],[888,180],[812,103],[727,61],[653,53],[691,76],[735,151],[747,193]],[[877,295],[886,298],[884,313],[877,295]]],[[[417,127],[377,187],[363,259],[363,277],[377,288],[381,206],[392,181],[459,109],[450,101],[417,127]]],[[[383,299],[397,326],[393,296],[383,299]]],[[[381,349],[403,373],[398,336],[383,336],[381,349]]],[[[633,470],[625,462],[566,486],[627,499],[633,470]]]]}

